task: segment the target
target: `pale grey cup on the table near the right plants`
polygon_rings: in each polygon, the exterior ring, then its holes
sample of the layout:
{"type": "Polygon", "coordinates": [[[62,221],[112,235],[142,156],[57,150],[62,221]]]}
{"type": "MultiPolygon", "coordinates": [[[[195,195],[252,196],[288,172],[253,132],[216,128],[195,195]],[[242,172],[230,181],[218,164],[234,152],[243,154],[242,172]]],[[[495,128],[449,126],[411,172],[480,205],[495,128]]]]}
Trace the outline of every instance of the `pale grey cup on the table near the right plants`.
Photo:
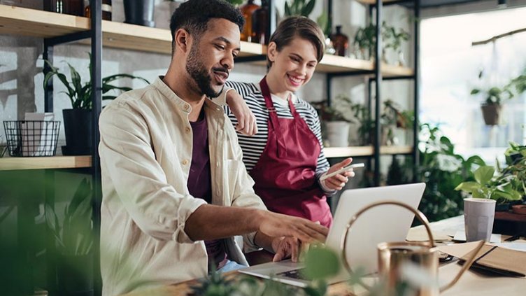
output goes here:
{"type": "Polygon", "coordinates": [[[466,241],[490,241],[495,219],[495,199],[464,199],[466,241]]]}

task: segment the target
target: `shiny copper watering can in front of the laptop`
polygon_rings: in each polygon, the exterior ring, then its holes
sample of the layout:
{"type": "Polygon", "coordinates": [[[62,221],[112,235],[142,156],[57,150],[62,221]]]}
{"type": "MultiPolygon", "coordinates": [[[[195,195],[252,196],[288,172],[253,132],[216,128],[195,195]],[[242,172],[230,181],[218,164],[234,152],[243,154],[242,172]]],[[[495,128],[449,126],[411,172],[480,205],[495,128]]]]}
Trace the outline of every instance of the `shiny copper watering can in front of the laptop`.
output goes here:
{"type": "MultiPolygon", "coordinates": [[[[439,272],[439,251],[434,245],[433,234],[431,232],[431,228],[429,227],[429,222],[427,218],[422,212],[413,209],[411,206],[394,201],[376,202],[374,204],[370,204],[369,206],[366,206],[360,211],[358,211],[355,214],[355,216],[353,216],[353,218],[350,219],[349,223],[346,226],[345,232],[343,232],[340,244],[341,255],[343,258],[343,266],[347,269],[349,274],[353,274],[353,270],[351,269],[350,263],[347,260],[346,248],[347,237],[355,221],[358,219],[358,217],[360,217],[364,212],[368,211],[369,209],[374,208],[375,206],[382,206],[387,204],[401,206],[413,212],[416,218],[418,218],[418,220],[420,220],[420,222],[425,226],[427,234],[429,235],[429,242],[394,242],[378,244],[378,274],[380,276],[380,279],[384,281],[388,290],[394,291],[394,288],[397,285],[397,283],[401,283],[401,281],[403,280],[403,276],[401,275],[401,268],[407,264],[417,265],[420,269],[423,269],[434,279],[437,279],[439,272]]],[[[422,283],[417,287],[413,287],[415,288],[415,295],[436,296],[444,290],[453,287],[453,285],[455,285],[455,283],[457,283],[457,281],[460,279],[460,276],[462,276],[462,274],[464,274],[464,272],[467,269],[469,269],[469,267],[471,267],[471,265],[475,261],[476,254],[478,253],[478,251],[481,250],[483,246],[484,241],[480,241],[478,246],[476,247],[476,250],[471,251],[472,255],[469,258],[469,260],[467,260],[464,263],[464,266],[462,267],[462,269],[460,269],[460,272],[458,272],[458,274],[455,276],[455,278],[453,278],[452,281],[450,281],[450,283],[442,287],[439,287],[438,285],[432,285],[429,283],[422,283]]],[[[361,285],[364,286],[364,288],[366,288],[367,290],[371,290],[371,287],[367,286],[367,284],[361,283],[361,285]]]]}

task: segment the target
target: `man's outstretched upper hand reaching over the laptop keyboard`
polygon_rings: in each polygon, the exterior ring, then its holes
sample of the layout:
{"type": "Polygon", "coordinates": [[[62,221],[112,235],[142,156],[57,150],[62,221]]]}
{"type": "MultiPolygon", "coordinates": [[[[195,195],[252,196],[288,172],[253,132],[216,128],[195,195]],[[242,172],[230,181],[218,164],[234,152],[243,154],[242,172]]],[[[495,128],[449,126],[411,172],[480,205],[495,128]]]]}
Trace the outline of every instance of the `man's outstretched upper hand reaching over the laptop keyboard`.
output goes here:
{"type": "Polygon", "coordinates": [[[304,243],[325,242],[329,229],[304,218],[280,213],[260,211],[257,219],[257,232],[267,237],[294,237],[304,243]]]}

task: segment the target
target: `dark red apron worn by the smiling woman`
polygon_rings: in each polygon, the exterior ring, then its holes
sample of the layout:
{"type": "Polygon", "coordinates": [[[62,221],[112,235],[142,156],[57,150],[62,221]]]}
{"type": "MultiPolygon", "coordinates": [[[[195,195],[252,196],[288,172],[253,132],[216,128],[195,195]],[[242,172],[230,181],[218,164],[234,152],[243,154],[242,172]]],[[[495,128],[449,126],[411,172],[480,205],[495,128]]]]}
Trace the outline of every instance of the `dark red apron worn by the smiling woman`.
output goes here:
{"type": "Polygon", "coordinates": [[[260,82],[269,111],[269,137],[250,176],[254,190],[273,212],[319,221],[329,227],[332,214],[315,176],[320,142],[289,99],[293,119],[278,118],[265,78],[260,82]]]}

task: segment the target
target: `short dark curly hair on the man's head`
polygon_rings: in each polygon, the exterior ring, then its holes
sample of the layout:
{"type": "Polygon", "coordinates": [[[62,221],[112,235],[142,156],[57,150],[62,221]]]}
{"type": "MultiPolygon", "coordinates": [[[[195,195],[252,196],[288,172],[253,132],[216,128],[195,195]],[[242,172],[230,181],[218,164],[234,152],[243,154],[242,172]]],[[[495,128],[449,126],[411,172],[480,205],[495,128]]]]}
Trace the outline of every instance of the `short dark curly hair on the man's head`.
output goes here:
{"type": "Polygon", "coordinates": [[[172,50],[175,46],[176,31],[183,28],[199,38],[208,28],[208,21],[213,18],[224,18],[237,24],[239,31],[243,31],[245,19],[239,9],[224,0],[189,0],[176,9],[171,16],[170,31],[172,50]]]}

